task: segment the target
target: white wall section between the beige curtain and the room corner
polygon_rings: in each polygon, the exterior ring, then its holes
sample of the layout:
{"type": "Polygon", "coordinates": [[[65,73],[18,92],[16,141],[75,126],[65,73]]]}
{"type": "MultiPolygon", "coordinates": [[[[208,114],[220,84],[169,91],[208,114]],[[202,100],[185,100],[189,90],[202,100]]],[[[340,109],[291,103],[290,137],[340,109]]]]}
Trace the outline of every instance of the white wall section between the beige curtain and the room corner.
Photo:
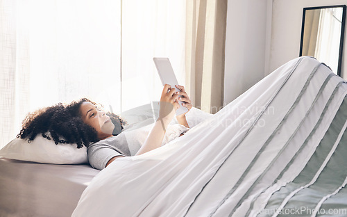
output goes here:
{"type": "Polygon", "coordinates": [[[224,105],[260,81],[269,67],[271,6],[272,0],[228,1],[224,105]]]}

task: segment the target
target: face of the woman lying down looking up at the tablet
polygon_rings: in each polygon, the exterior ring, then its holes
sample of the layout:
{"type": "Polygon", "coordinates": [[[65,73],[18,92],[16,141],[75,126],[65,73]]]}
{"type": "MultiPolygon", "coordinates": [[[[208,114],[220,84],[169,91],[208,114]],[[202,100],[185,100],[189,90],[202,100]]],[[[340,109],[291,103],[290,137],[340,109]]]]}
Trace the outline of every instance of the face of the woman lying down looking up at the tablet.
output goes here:
{"type": "Polygon", "coordinates": [[[83,102],[80,107],[83,122],[94,127],[98,132],[99,139],[112,136],[115,125],[104,111],[97,109],[97,106],[90,102],[83,102]]]}

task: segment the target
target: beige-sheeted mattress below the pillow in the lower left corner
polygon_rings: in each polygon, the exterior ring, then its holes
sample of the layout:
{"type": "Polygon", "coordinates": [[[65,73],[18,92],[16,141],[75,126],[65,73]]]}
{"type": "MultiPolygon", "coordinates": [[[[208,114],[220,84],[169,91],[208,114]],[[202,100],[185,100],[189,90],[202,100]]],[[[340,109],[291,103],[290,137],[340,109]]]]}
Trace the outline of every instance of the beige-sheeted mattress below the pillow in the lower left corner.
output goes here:
{"type": "Polygon", "coordinates": [[[100,171],[90,165],[56,165],[0,158],[0,216],[71,216],[100,171]]]}

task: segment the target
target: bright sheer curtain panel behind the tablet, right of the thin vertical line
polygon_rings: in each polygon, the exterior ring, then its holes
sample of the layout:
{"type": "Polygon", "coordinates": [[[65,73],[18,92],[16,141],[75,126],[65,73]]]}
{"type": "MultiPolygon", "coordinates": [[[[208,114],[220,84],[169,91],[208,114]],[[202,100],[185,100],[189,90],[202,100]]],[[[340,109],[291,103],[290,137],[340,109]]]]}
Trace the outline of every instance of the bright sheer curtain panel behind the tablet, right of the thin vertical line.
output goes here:
{"type": "Polygon", "coordinates": [[[122,1],[122,111],[159,101],[153,57],[168,57],[185,86],[185,1],[122,1]]]}

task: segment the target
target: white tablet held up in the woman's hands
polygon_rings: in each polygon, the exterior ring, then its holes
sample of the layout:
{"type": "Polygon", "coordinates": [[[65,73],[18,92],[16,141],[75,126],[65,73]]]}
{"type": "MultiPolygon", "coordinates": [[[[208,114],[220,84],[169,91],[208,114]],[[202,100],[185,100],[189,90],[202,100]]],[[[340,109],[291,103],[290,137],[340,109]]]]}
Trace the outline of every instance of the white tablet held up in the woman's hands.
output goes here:
{"type": "MultiPolygon", "coordinates": [[[[178,81],[176,79],[174,70],[172,69],[171,63],[169,61],[169,58],[153,58],[153,61],[155,63],[155,66],[157,67],[158,74],[160,77],[160,80],[162,80],[162,85],[165,83],[169,84],[172,87],[176,89],[176,91],[180,91],[178,88],[176,88],[176,84],[178,85],[178,81]]],[[[180,96],[182,97],[182,96],[180,96]]],[[[182,113],[186,113],[188,109],[185,106],[182,106],[181,101],[178,101],[178,104],[180,104],[180,108],[176,110],[176,115],[180,115],[182,113]]]]}

